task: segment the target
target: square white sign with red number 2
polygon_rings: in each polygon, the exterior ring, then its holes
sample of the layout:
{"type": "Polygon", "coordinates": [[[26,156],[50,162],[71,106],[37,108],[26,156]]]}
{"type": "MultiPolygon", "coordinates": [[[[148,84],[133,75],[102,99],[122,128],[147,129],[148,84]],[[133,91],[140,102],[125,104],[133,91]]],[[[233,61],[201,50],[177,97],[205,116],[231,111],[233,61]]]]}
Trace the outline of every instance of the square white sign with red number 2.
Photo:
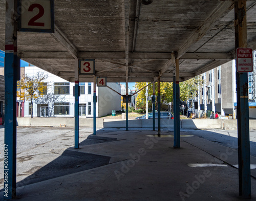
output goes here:
{"type": "Polygon", "coordinates": [[[19,0],[19,31],[54,33],[54,0],[19,0]]]}

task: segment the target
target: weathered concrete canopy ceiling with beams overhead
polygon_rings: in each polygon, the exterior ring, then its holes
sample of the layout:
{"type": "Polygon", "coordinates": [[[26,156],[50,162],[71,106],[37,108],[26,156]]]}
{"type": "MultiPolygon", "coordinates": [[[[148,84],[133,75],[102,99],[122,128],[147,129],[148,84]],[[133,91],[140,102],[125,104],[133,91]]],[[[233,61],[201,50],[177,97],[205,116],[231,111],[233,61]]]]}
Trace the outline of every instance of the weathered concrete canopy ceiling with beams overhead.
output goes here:
{"type": "MultiPolygon", "coordinates": [[[[234,2],[220,0],[55,0],[55,33],[18,33],[18,54],[74,81],[75,59],[95,59],[108,82],[180,81],[235,57],[234,2]]],[[[5,1],[0,0],[0,49],[5,51],[5,1]]],[[[248,47],[256,49],[256,2],[247,1],[248,47]]],[[[80,75],[92,82],[92,75],[80,75]]]]}

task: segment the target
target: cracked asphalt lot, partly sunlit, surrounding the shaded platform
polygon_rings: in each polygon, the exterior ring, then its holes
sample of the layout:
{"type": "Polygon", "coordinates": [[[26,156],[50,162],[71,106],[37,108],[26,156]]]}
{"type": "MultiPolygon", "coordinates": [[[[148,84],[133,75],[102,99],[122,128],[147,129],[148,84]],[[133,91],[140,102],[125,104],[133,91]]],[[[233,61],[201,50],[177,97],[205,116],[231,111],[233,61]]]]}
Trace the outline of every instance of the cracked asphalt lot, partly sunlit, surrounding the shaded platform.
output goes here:
{"type": "MultiPolygon", "coordinates": [[[[132,129],[132,128],[130,128],[132,129]]],[[[97,128],[110,133],[125,128],[97,128]]],[[[134,129],[136,130],[136,129],[134,129]]],[[[138,129],[137,129],[138,130],[138,129]]],[[[150,128],[140,130],[151,130],[150,128]]],[[[168,129],[162,129],[169,131],[168,129]]],[[[237,149],[237,131],[221,129],[181,129],[208,141],[237,149]]],[[[115,139],[92,138],[93,128],[79,128],[80,145],[92,145],[115,139]]],[[[17,127],[17,187],[53,177],[109,164],[110,157],[67,150],[74,146],[73,127],[17,127]]],[[[251,155],[256,156],[256,131],[250,131],[251,155]]],[[[0,189],[3,188],[4,127],[0,127],[0,189]]],[[[1,190],[0,190],[1,191],[1,190]]]]}

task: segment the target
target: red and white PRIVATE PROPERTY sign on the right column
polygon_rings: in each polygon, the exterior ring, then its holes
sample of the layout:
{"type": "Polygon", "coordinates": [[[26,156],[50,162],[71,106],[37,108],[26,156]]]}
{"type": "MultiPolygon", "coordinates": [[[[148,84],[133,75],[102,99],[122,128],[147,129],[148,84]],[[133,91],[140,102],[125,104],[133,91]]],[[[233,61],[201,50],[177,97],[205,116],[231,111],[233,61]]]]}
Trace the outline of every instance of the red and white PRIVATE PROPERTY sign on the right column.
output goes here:
{"type": "Polygon", "coordinates": [[[252,49],[238,48],[237,49],[237,72],[246,73],[253,71],[252,64],[252,49]]]}

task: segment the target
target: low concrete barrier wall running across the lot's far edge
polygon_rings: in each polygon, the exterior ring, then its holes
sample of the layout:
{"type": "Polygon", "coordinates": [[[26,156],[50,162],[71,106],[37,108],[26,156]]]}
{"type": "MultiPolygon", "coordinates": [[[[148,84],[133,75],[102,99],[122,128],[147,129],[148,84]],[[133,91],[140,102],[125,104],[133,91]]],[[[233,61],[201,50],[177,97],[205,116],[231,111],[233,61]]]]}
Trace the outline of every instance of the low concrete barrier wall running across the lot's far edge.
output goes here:
{"type": "MultiPolygon", "coordinates": [[[[65,117],[22,117],[17,118],[18,126],[68,126],[74,127],[74,118],[65,117]]],[[[250,130],[256,129],[256,120],[249,120],[250,130]]],[[[79,118],[80,127],[93,127],[93,118],[79,118]]],[[[155,120],[158,127],[158,121],[155,120]]],[[[96,127],[125,128],[125,120],[117,119],[96,119],[96,127]]],[[[131,119],[128,122],[130,128],[152,128],[152,119],[131,119]]],[[[162,119],[161,128],[174,128],[174,120],[162,119]]],[[[225,119],[182,119],[180,128],[221,128],[225,130],[237,130],[237,120],[225,119]]]]}

